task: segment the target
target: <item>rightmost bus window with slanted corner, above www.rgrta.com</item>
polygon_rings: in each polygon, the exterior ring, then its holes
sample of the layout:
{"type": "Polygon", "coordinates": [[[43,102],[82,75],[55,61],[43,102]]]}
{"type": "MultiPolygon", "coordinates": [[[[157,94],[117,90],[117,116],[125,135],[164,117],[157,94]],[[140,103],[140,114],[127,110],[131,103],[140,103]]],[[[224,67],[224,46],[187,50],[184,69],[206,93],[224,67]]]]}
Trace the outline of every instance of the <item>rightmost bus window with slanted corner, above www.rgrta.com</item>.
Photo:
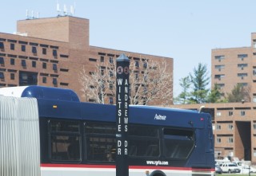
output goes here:
{"type": "Polygon", "coordinates": [[[167,158],[188,158],[194,147],[194,131],[163,129],[164,154],[167,158]]]}

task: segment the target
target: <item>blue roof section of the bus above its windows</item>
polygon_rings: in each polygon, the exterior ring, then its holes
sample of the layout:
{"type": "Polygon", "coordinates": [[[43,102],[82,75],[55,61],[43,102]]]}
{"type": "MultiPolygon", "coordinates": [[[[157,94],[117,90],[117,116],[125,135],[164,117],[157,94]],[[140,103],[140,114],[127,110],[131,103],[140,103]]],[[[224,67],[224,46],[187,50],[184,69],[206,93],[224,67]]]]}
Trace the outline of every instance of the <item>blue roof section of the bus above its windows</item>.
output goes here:
{"type": "MultiPolygon", "coordinates": [[[[35,97],[38,99],[38,113],[41,117],[61,119],[87,119],[102,122],[115,122],[115,105],[91,104],[79,101],[75,92],[64,88],[26,86],[0,88],[7,96],[35,97]],[[7,89],[10,89],[9,92],[7,89]]],[[[129,123],[173,127],[203,127],[209,114],[198,111],[159,108],[153,106],[130,105],[129,123]]]]}

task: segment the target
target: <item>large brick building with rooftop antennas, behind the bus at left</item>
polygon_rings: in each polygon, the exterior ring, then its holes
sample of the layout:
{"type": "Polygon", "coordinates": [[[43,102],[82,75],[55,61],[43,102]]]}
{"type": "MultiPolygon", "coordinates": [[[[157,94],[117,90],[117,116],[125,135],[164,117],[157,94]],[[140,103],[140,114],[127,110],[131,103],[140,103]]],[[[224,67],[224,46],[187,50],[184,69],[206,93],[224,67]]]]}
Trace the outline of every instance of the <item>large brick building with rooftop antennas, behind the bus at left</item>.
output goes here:
{"type": "MultiPolygon", "coordinates": [[[[78,72],[85,68],[90,74],[95,65],[122,53],[131,61],[164,60],[173,72],[169,57],[90,46],[89,25],[88,19],[70,16],[27,19],[18,21],[17,33],[0,33],[0,87],[36,84],[70,88],[84,101],[78,72]]],[[[111,103],[113,98],[109,97],[111,103]]]]}

